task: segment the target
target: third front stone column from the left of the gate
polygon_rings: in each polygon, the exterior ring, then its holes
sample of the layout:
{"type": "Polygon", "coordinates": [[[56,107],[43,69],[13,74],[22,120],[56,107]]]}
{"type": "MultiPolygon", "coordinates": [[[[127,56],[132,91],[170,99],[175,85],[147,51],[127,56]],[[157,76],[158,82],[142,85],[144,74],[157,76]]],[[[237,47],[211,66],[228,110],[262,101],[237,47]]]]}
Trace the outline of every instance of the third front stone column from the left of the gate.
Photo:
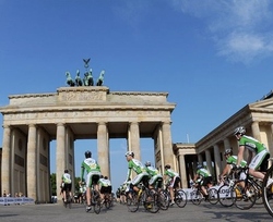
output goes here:
{"type": "Polygon", "coordinates": [[[63,123],[57,124],[57,141],[56,141],[56,186],[57,195],[60,194],[61,175],[66,168],[66,127],[63,123]]]}

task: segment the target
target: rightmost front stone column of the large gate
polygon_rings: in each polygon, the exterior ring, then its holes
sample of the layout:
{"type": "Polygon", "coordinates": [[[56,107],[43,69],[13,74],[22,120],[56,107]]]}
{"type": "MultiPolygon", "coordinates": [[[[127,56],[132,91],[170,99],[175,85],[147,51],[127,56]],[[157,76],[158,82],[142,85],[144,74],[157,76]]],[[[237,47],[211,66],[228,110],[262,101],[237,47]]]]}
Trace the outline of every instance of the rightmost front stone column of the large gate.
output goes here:
{"type": "Polygon", "coordinates": [[[163,136],[164,164],[165,165],[170,164],[171,168],[175,168],[169,122],[162,123],[162,136],[163,136]]]}

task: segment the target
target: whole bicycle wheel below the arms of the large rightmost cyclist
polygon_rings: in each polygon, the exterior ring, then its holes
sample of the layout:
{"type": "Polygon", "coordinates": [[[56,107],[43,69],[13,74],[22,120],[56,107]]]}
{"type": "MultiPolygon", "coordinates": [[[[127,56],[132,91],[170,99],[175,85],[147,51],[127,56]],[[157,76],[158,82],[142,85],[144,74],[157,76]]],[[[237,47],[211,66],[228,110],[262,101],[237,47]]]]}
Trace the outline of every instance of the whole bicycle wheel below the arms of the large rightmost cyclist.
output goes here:
{"type": "Polygon", "coordinates": [[[241,181],[236,182],[236,184],[233,187],[234,190],[232,193],[233,202],[240,210],[248,210],[256,203],[257,199],[256,189],[253,184],[248,183],[247,190],[249,192],[249,195],[247,195],[246,192],[244,190],[244,187],[241,187],[240,182],[241,181]]]}

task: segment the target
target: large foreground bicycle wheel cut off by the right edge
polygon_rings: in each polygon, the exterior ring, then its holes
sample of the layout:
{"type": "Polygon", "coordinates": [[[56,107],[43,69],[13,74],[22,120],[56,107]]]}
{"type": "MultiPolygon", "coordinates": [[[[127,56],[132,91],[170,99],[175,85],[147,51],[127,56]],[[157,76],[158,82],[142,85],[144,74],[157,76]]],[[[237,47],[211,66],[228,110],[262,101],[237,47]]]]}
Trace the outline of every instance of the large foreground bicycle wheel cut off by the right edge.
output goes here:
{"type": "Polygon", "coordinates": [[[273,184],[266,187],[268,181],[273,180],[273,165],[268,170],[262,184],[262,199],[269,214],[273,217],[273,184]]]}

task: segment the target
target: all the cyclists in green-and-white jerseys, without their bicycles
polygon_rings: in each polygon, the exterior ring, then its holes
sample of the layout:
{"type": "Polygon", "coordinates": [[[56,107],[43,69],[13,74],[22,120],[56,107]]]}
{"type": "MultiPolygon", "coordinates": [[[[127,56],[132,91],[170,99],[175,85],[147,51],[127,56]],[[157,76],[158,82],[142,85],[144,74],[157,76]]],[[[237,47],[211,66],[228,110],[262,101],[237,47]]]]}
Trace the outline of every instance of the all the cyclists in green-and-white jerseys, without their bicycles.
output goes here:
{"type": "MultiPolygon", "coordinates": [[[[249,174],[263,180],[264,173],[268,169],[268,160],[270,152],[266,147],[258,141],[256,138],[247,136],[245,127],[237,127],[234,132],[238,140],[238,156],[233,155],[232,149],[226,149],[224,156],[226,158],[226,166],[219,175],[219,180],[223,180],[224,175],[227,175],[232,168],[249,166],[249,174]],[[248,160],[244,160],[244,153],[248,150],[248,160]]],[[[119,188],[118,195],[126,195],[128,190],[134,190],[140,193],[138,185],[142,182],[150,189],[162,188],[164,183],[168,187],[170,193],[170,205],[174,205],[174,188],[180,187],[180,176],[175,172],[169,164],[165,165],[164,175],[159,173],[157,169],[152,166],[150,161],[143,164],[140,160],[134,158],[133,151],[126,152],[126,159],[128,161],[128,173],[126,182],[122,187],[119,188]],[[135,172],[135,177],[131,180],[131,173],[135,172]]],[[[245,178],[245,174],[240,174],[240,178],[245,178]]],[[[202,164],[198,164],[197,173],[193,178],[195,184],[201,186],[204,197],[207,198],[206,188],[212,186],[212,174],[202,164]]],[[[86,184],[86,211],[91,210],[91,186],[94,184],[94,188],[100,192],[100,197],[104,199],[104,194],[111,194],[111,184],[108,177],[103,177],[100,173],[100,166],[97,161],[92,158],[92,152],[85,152],[85,160],[82,162],[81,183],[86,184]],[[84,173],[86,171],[86,180],[84,180],[84,173]]],[[[273,180],[268,181],[268,185],[271,185],[273,180]]],[[[66,192],[71,193],[71,176],[68,170],[64,171],[61,180],[61,187],[63,194],[63,200],[67,201],[66,192]]],[[[71,194],[70,194],[71,196],[71,194]]]]}

